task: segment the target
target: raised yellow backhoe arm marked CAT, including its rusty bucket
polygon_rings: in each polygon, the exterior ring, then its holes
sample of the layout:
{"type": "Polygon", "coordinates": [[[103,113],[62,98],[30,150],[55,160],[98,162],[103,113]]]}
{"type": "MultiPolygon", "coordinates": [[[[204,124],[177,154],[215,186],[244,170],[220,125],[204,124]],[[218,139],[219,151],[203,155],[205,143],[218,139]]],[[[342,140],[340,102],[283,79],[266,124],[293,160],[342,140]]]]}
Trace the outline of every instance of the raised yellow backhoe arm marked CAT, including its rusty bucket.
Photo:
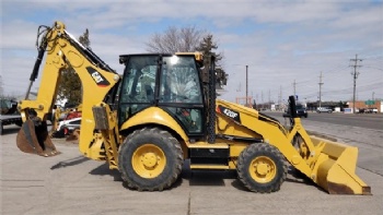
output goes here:
{"type": "Polygon", "coordinates": [[[18,134],[18,146],[26,153],[36,153],[43,156],[56,154],[56,148],[49,136],[46,136],[46,129],[38,129],[38,127],[46,127],[47,116],[53,111],[61,71],[72,68],[82,84],[82,120],[79,148],[88,157],[100,157],[100,151],[95,155],[97,151],[91,150],[95,136],[95,119],[92,107],[105,100],[111,89],[118,83],[119,75],[71,36],[61,22],[55,22],[53,27],[46,27],[38,50],[38,58],[30,80],[31,85],[37,77],[38,68],[45,53],[42,80],[37,98],[32,100],[26,96],[25,100],[19,104],[24,126],[18,134]]]}

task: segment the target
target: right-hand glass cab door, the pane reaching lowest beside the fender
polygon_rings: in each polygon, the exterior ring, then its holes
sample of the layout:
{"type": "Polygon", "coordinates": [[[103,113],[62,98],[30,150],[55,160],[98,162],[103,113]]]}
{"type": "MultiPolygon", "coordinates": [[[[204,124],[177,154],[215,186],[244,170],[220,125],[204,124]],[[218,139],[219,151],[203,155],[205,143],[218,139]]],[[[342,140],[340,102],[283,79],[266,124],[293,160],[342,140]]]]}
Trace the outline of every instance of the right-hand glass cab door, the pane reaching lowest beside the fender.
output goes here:
{"type": "Polygon", "coordinates": [[[165,56],[162,62],[159,106],[170,112],[189,136],[202,135],[204,96],[195,57],[165,56]]]}

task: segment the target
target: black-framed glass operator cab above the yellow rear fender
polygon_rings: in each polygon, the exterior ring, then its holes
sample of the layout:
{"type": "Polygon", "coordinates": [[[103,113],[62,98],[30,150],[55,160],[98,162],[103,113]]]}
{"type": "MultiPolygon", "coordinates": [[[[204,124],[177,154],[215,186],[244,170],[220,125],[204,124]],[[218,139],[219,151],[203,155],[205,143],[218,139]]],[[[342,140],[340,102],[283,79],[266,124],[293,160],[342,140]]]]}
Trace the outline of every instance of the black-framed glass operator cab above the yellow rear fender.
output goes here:
{"type": "Polygon", "coordinates": [[[149,107],[169,112],[189,136],[205,133],[199,63],[190,55],[126,55],[118,95],[119,126],[149,107]]]}

